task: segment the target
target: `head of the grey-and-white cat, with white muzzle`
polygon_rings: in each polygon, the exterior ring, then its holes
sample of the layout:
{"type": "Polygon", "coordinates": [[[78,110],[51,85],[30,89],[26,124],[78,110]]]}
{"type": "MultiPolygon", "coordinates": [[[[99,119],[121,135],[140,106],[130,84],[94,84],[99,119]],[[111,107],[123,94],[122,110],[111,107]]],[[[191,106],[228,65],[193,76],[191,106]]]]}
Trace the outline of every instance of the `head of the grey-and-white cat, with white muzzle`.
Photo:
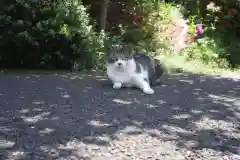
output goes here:
{"type": "Polygon", "coordinates": [[[131,49],[127,47],[117,47],[110,51],[107,63],[116,68],[126,68],[129,61],[133,59],[131,49]]]}

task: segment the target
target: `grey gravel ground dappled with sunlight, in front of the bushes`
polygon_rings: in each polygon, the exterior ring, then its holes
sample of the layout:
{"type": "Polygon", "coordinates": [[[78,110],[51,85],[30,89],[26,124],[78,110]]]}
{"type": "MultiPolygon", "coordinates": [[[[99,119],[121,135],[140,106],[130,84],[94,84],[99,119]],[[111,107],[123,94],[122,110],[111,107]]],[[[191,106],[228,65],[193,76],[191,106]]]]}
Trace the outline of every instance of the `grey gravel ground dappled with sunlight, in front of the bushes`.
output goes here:
{"type": "Polygon", "coordinates": [[[96,75],[1,76],[0,159],[240,160],[239,80],[175,74],[154,89],[114,90],[96,75]]]}

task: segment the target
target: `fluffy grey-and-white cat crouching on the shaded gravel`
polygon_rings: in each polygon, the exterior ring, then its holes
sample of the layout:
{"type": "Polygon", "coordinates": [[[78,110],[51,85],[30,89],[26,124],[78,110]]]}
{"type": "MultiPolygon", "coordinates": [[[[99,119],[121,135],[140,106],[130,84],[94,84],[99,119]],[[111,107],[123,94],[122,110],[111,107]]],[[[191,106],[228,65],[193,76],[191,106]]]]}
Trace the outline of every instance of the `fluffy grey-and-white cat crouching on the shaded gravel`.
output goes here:
{"type": "Polygon", "coordinates": [[[154,94],[151,86],[163,74],[161,64],[144,53],[131,54],[124,48],[117,48],[107,59],[107,76],[114,89],[137,87],[145,94],[154,94]]]}

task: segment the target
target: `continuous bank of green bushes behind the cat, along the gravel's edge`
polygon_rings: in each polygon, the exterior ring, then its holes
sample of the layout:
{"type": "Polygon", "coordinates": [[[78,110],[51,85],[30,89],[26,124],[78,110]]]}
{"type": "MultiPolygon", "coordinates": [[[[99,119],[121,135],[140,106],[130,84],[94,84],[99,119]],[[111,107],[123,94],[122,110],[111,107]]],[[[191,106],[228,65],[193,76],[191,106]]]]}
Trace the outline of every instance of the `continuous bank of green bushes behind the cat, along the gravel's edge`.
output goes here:
{"type": "Polygon", "coordinates": [[[238,1],[223,0],[216,4],[110,0],[103,33],[99,31],[101,1],[4,0],[0,2],[0,67],[101,67],[108,48],[121,43],[154,55],[179,54],[217,67],[239,67],[238,6],[238,1]],[[171,52],[176,20],[183,19],[189,21],[190,38],[202,23],[204,38],[182,52],[171,52]]]}

